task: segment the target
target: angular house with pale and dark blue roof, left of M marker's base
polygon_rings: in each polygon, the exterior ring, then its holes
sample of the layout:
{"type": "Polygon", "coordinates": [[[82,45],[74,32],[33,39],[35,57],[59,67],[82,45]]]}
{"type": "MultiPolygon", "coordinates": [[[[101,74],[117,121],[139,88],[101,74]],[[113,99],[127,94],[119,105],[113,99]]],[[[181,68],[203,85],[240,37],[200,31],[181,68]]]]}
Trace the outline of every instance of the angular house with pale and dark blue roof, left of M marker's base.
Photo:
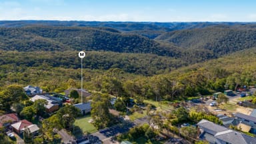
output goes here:
{"type": "Polygon", "coordinates": [[[46,111],[48,113],[52,113],[54,111],[57,111],[59,109],[60,103],[62,104],[62,101],[55,99],[56,97],[46,96],[46,95],[35,95],[30,99],[30,101],[35,102],[37,99],[45,99],[48,103],[45,105],[46,111]]]}

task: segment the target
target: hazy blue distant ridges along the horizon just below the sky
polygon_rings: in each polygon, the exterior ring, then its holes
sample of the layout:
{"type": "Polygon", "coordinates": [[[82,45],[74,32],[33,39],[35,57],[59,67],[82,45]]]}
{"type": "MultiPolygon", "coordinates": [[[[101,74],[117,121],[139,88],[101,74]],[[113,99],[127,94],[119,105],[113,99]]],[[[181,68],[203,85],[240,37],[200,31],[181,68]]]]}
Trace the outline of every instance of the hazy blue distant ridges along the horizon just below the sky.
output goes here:
{"type": "Polygon", "coordinates": [[[231,22],[114,22],[114,21],[0,21],[0,27],[25,27],[30,25],[44,25],[57,27],[111,27],[119,31],[176,31],[182,29],[196,29],[212,25],[250,25],[256,23],[231,22]]]}

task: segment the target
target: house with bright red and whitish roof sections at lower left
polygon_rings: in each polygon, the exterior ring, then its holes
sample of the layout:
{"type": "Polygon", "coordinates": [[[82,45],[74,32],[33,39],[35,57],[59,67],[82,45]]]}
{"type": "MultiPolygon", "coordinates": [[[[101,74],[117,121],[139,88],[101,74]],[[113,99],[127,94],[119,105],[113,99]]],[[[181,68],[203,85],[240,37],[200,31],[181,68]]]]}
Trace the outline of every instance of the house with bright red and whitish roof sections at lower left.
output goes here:
{"type": "Polygon", "coordinates": [[[36,135],[39,131],[39,127],[37,127],[37,125],[27,121],[26,119],[23,119],[17,123],[13,123],[11,127],[13,127],[13,131],[18,134],[22,134],[25,129],[29,129],[29,132],[33,135],[36,135]]]}

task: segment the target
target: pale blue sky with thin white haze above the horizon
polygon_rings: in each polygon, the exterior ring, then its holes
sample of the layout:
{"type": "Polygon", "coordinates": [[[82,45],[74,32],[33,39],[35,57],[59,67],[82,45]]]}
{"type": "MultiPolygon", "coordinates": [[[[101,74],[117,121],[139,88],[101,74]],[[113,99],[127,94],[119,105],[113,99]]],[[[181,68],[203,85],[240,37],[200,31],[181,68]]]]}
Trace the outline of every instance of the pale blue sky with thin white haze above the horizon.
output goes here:
{"type": "Polygon", "coordinates": [[[0,20],[256,21],[249,0],[0,0],[0,20]]]}

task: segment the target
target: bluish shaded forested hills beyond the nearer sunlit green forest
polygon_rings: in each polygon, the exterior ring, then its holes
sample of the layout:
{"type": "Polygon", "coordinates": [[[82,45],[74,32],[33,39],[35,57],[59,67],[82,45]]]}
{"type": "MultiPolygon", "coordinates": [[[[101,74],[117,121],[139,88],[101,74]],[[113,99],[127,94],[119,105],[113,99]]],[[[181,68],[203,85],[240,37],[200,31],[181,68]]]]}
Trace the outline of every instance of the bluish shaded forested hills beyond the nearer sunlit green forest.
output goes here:
{"type": "Polygon", "coordinates": [[[168,65],[177,68],[251,47],[256,47],[255,23],[0,21],[4,51],[148,54],[171,57],[168,65]]]}

